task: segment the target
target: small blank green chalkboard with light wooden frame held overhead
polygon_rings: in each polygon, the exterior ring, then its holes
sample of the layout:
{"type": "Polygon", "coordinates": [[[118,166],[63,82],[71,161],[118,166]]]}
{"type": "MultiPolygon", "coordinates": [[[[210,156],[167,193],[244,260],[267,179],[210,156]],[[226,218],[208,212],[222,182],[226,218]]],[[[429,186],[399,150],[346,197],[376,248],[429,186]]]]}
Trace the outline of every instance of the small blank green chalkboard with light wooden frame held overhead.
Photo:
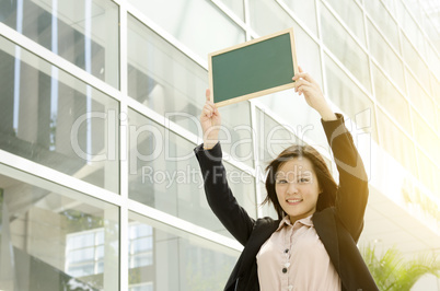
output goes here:
{"type": "Polygon", "coordinates": [[[217,106],[294,86],[298,73],[293,28],[211,53],[209,86],[217,106]]]}

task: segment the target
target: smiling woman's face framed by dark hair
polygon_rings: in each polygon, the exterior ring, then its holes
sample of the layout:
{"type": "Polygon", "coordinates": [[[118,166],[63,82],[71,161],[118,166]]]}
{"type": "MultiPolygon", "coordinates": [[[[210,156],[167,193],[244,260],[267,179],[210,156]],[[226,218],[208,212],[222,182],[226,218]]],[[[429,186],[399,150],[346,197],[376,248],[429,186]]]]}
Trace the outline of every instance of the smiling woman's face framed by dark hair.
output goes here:
{"type": "Polygon", "coordinates": [[[321,189],[312,162],[293,158],[281,164],[275,175],[275,191],[292,223],[313,214],[321,189]]]}

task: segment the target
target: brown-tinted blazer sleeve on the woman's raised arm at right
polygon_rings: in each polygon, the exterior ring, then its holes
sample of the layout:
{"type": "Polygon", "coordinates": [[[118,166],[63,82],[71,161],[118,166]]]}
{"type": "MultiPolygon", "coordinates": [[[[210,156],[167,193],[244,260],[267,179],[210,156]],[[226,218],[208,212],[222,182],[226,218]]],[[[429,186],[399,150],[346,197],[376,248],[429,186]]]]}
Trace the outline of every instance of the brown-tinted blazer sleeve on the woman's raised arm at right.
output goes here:
{"type": "Polygon", "coordinates": [[[339,172],[336,217],[357,242],[363,229],[369,194],[368,177],[352,137],[344,125],[343,115],[336,116],[336,120],[321,120],[339,172]]]}

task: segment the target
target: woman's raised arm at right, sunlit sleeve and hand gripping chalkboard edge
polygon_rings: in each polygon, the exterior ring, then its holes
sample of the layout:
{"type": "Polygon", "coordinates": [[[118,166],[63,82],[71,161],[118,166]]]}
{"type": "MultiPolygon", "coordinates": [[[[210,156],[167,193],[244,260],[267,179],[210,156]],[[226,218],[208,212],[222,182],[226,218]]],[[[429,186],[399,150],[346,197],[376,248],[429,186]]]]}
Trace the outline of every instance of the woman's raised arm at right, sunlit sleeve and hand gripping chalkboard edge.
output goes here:
{"type": "Polygon", "coordinates": [[[300,68],[296,91],[304,95],[308,104],[322,117],[328,144],[332,148],[339,172],[339,188],[336,195],[336,214],[355,241],[363,228],[363,214],[368,200],[368,178],[362,160],[344,125],[341,115],[333,113],[320,85],[300,68]]]}

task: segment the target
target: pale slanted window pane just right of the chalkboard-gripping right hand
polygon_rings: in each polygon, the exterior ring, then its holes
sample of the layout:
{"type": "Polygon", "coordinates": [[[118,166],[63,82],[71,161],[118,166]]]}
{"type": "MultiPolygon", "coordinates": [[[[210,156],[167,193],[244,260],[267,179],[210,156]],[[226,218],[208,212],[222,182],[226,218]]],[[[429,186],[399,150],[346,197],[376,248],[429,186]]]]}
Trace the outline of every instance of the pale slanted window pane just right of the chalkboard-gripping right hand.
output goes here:
{"type": "Polygon", "coordinates": [[[356,123],[358,129],[370,132],[378,141],[373,102],[327,55],[324,60],[328,98],[356,123]]]}

